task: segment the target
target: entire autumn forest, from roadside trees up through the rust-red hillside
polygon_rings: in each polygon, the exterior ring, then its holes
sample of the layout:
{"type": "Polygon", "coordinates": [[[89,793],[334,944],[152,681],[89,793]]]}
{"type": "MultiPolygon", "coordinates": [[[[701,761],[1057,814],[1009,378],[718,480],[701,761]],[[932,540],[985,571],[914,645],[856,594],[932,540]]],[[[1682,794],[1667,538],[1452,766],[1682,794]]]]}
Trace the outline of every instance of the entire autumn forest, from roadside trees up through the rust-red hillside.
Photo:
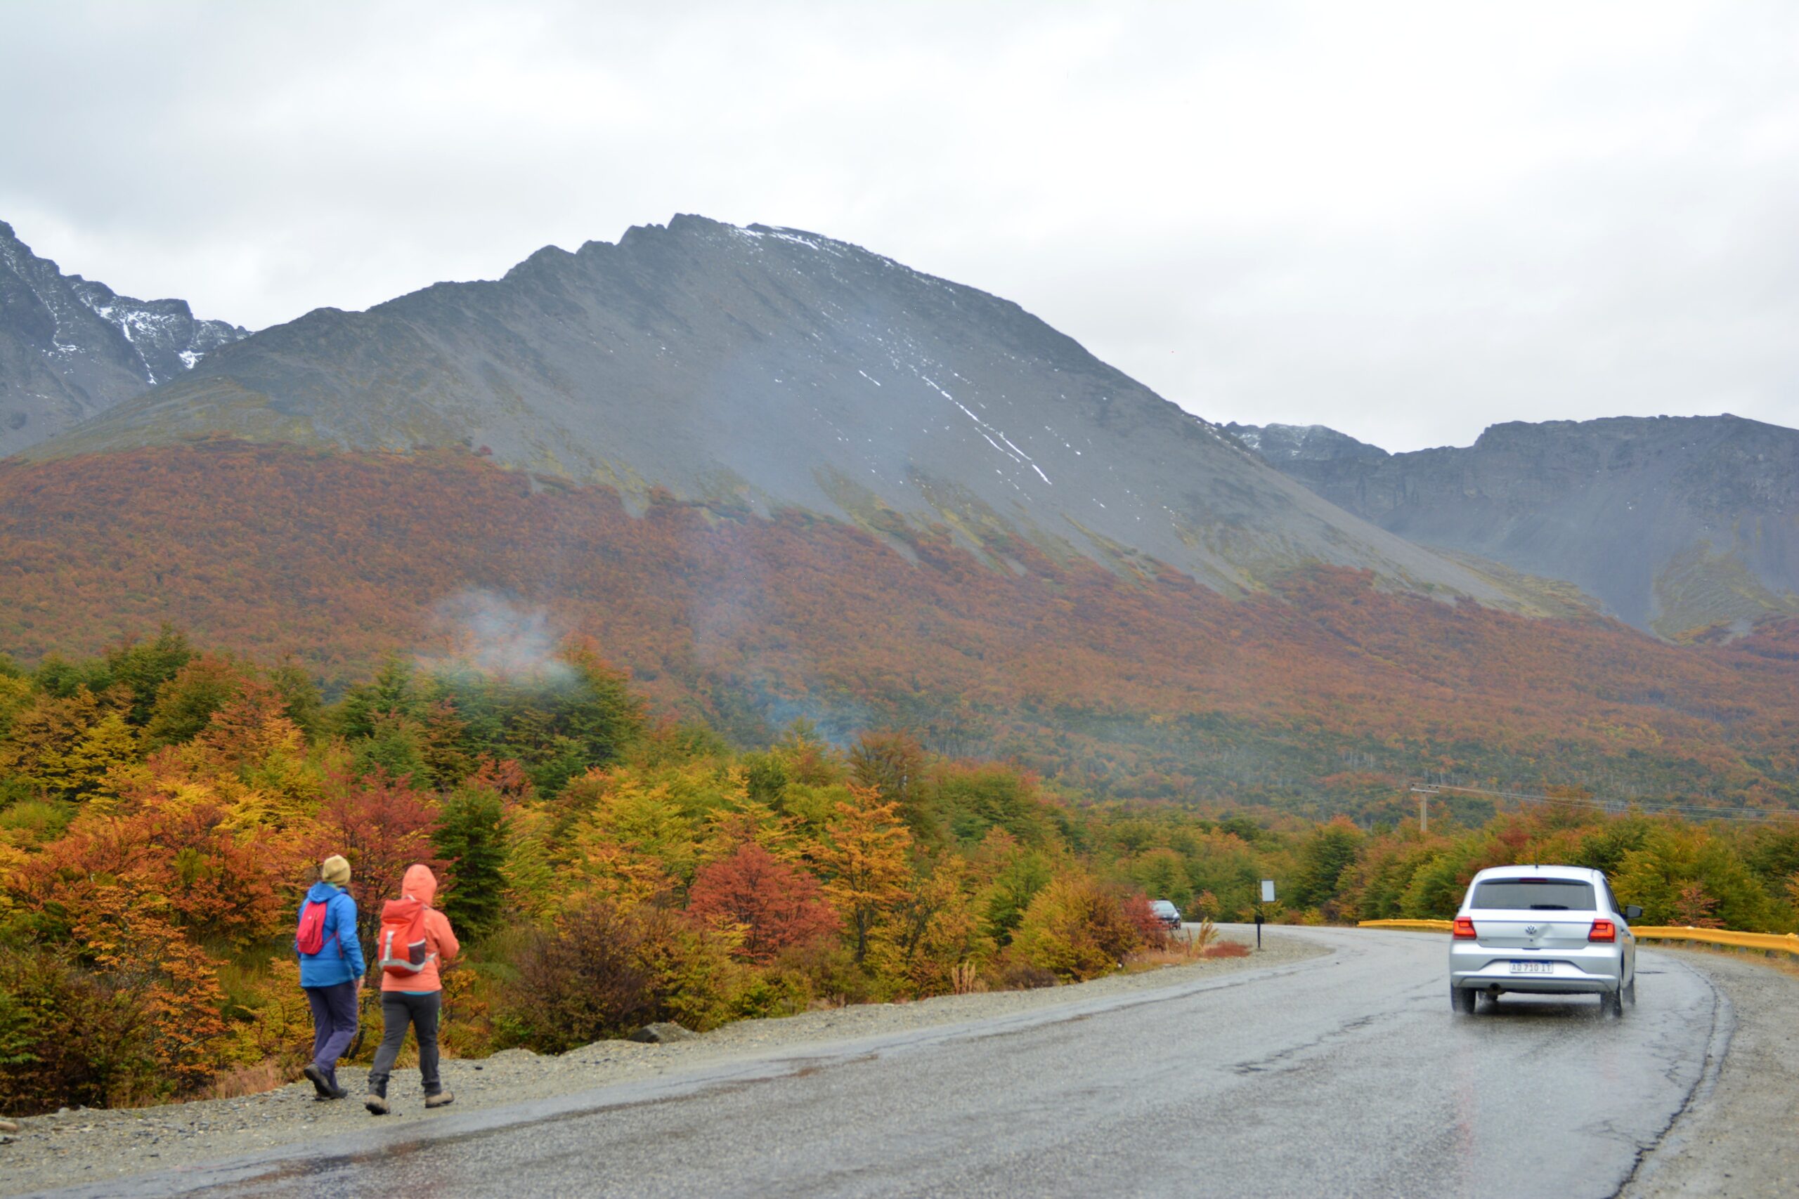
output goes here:
{"type": "Polygon", "coordinates": [[[1150,901],[1238,920],[1263,877],[1279,920],[1443,917],[1554,859],[1795,928],[1783,626],[1675,647],[1328,568],[1227,599],[236,442],[0,466],[0,588],[5,1111],[297,1077],[327,854],[365,924],[439,872],[464,1057],[1234,953],[1150,901]],[[1423,778],[1549,802],[1421,832],[1423,778]]]}

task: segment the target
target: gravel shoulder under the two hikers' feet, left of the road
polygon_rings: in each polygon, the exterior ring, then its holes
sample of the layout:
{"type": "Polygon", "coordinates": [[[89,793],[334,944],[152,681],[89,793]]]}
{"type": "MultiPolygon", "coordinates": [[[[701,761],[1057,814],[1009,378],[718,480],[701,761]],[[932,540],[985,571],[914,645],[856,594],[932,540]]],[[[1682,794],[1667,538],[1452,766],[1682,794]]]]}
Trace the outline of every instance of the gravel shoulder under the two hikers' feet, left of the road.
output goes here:
{"type": "MultiPolygon", "coordinates": [[[[1223,929],[1231,940],[1254,944],[1252,929],[1223,929]]],[[[506,1107],[576,1095],[621,1082],[712,1066],[727,1059],[766,1057],[772,1052],[824,1041],[851,1041],[939,1025],[1040,1012],[1110,996],[1178,987],[1216,974],[1302,962],[1324,946],[1265,933],[1263,949],[1245,958],[1211,958],[1142,974],[1114,974],[1072,987],[998,990],[941,996],[916,1003],[871,1003],[727,1025],[676,1044],[597,1041],[556,1057],[506,1050],[486,1059],[444,1059],[444,1086],[455,1104],[425,1111],[417,1070],[396,1070],[389,1082],[394,1115],[381,1125],[407,1125],[484,1107],[506,1107]]],[[[77,1109],[16,1120],[18,1131],[0,1136],[0,1195],[56,1186],[95,1185],[135,1174],[194,1167],[259,1150],[371,1127],[376,1116],[362,1107],[360,1068],[338,1071],[351,1098],[317,1102],[311,1084],[299,1082],[230,1100],[167,1104],[124,1111],[77,1109]]]]}

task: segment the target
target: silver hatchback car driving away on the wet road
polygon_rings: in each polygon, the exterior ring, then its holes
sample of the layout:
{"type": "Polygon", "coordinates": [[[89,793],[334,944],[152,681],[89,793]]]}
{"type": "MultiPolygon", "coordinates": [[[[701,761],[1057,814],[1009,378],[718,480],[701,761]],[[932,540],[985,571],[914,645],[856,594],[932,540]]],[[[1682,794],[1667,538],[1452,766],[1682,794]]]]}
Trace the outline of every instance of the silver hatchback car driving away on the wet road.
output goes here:
{"type": "Polygon", "coordinates": [[[1637,1001],[1637,938],[1599,870],[1493,866],[1473,875],[1450,935],[1450,1007],[1473,1012],[1481,994],[1598,994],[1623,1016],[1637,1001]]]}

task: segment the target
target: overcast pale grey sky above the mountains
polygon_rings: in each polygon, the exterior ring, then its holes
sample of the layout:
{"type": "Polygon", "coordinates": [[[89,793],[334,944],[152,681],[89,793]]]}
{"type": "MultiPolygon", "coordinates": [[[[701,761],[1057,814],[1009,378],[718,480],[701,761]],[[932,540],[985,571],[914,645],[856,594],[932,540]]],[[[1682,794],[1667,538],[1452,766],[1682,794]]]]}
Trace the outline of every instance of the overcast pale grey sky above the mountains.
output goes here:
{"type": "Polygon", "coordinates": [[[250,327],[675,212],[1214,421],[1799,426],[1799,4],[13,0],[0,219],[250,327]]]}

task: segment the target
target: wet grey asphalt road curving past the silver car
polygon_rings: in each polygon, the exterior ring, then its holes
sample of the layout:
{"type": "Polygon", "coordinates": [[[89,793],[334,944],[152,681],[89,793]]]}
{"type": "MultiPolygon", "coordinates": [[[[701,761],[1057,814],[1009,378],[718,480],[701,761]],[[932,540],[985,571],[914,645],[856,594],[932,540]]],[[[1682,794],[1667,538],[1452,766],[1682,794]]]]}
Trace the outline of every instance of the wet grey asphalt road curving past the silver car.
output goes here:
{"type": "Polygon", "coordinates": [[[1614,1195],[1722,1048],[1671,955],[1623,1019],[1455,1017],[1441,937],[1306,935],[1337,953],[74,1194],[1614,1195]]]}

